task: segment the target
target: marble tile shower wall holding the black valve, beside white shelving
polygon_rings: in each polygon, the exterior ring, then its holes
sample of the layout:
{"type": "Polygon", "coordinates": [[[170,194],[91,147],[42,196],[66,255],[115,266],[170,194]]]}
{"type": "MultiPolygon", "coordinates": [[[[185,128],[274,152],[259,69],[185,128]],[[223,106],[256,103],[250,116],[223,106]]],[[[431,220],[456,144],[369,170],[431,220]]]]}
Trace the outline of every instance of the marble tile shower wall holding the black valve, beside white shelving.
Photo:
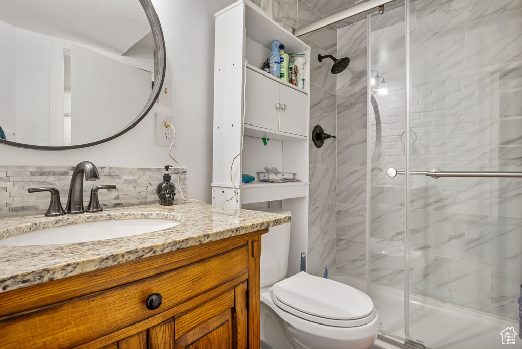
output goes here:
{"type": "MultiPolygon", "coordinates": [[[[327,3],[274,0],[274,18],[287,29],[300,28],[322,19],[322,13],[325,14],[322,6],[327,3]]],[[[313,126],[319,124],[325,132],[335,135],[337,78],[330,73],[333,61],[327,59],[319,63],[317,54],[337,55],[337,29],[329,26],[301,39],[312,48],[310,132],[313,126]]],[[[308,271],[318,276],[323,276],[326,266],[330,274],[336,272],[336,164],[337,142],[333,139],[326,141],[320,149],[310,145],[308,271]]]]}

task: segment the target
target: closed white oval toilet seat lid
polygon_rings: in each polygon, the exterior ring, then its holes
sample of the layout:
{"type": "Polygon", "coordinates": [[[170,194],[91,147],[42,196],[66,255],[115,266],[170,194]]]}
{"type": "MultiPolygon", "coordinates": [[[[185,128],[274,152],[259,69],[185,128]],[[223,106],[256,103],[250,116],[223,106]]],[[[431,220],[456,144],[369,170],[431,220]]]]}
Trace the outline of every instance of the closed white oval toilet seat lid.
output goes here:
{"type": "Polygon", "coordinates": [[[326,319],[361,319],[374,308],[370,297],[357,288],[305,272],[276,283],[272,295],[289,307],[326,319]]]}

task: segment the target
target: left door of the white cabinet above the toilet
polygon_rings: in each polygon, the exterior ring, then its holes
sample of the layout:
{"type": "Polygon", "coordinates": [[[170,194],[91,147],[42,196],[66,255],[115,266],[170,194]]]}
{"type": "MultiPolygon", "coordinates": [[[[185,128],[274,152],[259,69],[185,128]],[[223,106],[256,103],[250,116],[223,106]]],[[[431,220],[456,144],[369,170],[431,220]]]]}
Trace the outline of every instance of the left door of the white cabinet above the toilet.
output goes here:
{"type": "Polygon", "coordinates": [[[246,69],[245,124],[278,129],[279,85],[262,74],[246,69]]]}

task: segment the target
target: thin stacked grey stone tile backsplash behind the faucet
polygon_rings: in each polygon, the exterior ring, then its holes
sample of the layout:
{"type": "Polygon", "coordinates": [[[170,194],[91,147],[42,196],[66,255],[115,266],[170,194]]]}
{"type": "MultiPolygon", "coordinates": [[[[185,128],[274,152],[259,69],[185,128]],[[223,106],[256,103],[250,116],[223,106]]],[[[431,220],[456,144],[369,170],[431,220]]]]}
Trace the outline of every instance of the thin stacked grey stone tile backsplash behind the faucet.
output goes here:
{"type": "MultiPolygon", "coordinates": [[[[0,216],[35,214],[47,210],[50,193],[28,193],[28,188],[52,187],[60,190],[62,206],[67,203],[74,167],[64,166],[0,166],[0,216]]],[[[156,185],[162,181],[164,169],[99,166],[100,179],[84,182],[84,205],[89,203],[90,189],[96,185],[115,184],[116,189],[100,190],[104,208],[158,202],[156,185]]],[[[172,182],[177,185],[180,169],[171,168],[172,182]]],[[[181,188],[186,196],[186,169],[182,169],[181,188]]],[[[176,200],[182,200],[176,191],[176,200]]]]}

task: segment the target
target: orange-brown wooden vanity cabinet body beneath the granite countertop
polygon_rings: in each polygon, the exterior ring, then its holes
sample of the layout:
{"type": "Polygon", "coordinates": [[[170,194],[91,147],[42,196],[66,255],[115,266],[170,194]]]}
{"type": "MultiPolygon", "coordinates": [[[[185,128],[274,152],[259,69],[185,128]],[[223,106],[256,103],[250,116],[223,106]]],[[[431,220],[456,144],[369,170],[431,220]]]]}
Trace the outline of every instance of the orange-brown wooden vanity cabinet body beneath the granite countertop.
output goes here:
{"type": "Polygon", "coordinates": [[[1,347],[259,348],[265,232],[0,293],[1,347]]]}

